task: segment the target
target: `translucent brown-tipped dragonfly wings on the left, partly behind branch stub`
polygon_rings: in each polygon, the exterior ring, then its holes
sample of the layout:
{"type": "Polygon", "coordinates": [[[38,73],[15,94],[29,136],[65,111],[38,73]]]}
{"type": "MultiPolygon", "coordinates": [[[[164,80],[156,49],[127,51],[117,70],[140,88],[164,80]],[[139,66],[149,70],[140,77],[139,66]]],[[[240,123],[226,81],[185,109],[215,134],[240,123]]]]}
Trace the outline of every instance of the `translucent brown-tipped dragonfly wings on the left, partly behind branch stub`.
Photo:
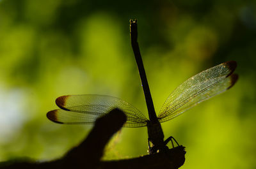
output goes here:
{"type": "Polygon", "coordinates": [[[56,99],[61,109],[47,113],[48,119],[64,124],[93,124],[95,120],[113,108],[119,108],[127,115],[125,127],[147,126],[147,118],[131,104],[122,99],[103,95],[72,95],[56,99]]]}

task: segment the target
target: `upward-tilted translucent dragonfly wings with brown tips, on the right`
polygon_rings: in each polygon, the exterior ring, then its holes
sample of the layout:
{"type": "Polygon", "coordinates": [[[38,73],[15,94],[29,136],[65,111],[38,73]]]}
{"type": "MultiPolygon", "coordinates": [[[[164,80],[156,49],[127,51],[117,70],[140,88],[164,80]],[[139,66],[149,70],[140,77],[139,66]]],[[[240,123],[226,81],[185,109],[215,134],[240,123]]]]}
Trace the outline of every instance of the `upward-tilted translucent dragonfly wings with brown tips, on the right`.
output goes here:
{"type": "Polygon", "coordinates": [[[169,121],[232,87],[238,78],[238,75],[232,74],[235,69],[236,61],[224,62],[183,82],[166,99],[158,115],[159,122],[169,121]]]}

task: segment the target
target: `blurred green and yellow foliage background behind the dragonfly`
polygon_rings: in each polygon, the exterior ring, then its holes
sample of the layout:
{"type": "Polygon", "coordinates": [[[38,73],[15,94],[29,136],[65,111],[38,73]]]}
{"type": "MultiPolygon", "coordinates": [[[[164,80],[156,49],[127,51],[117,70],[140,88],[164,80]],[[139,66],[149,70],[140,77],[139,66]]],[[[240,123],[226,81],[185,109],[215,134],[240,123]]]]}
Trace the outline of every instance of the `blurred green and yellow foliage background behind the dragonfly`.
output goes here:
{"type": "MultiPolygon", "coordinates": [[[[242,0],[1,0],[0,161],[60,158],[83,140],[92,126],[46,118],[58,96],[107,94],[147,115],[129,40],[129,18],[138,18],[156,112],[187,78],[238,64],[232,89],[163,123],[186,147],[182,168],[256,168],[255,9],[242,0]]],[[[142,154],[147,129],[123,128],[104,159],[142,154]]]]}

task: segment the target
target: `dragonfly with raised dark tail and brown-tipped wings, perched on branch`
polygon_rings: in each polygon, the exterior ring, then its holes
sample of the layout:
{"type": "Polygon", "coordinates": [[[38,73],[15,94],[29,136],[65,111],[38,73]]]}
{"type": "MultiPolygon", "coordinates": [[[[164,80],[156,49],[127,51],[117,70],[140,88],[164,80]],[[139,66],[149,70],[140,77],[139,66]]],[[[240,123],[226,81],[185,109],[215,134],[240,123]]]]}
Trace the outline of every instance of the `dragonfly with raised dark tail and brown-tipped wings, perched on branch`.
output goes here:
{"type": "Polygon", "coordinates": [[[141,77],[149,119],[138,108],[123,99],[97,94],[61,96],[56,99],[56,105],[59,109],[48,112],[47,118],[60,124],[94,124],[97,118],[114,108],[118,108],[127,116],[124,127],[140,128],[147,126],[149,154],[164,152],[168,150],[168,142],[171,141],[173,147],[172,140],[178,146],[179,143],[173,136],[164,140],[161,123],[170,121],[198,103],[230,89],[238,79],[238,75],[234,73],[237,63],[236,61],[223,62],[189,78],[168,96],[159,114],[156,115],[138,48],[137,20],[130,20],[130,31],[132,49],[141,77]]]}

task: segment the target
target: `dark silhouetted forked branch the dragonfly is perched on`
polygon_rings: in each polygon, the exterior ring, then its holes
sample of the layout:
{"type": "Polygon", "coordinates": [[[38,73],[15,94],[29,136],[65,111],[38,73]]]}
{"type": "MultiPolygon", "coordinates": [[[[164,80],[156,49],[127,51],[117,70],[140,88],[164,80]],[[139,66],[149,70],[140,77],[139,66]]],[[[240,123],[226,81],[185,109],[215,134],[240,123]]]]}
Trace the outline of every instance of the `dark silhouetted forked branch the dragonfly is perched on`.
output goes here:
{"type": "Polygon", "coordinates": [[[1,169],[80,169],[80,168],[179,168],[184,164],[184,147],[169,149],[164,153],[150,154],[140,158],[121,159],[116,161],[100,161],[104,147],[111,136],[122,128],[126,116],[115,109],[100,117],[87,138],[80,145],[70,150],[63,158],[45,163],[29,161],[7,161],[1,163],[1,169]]]}

